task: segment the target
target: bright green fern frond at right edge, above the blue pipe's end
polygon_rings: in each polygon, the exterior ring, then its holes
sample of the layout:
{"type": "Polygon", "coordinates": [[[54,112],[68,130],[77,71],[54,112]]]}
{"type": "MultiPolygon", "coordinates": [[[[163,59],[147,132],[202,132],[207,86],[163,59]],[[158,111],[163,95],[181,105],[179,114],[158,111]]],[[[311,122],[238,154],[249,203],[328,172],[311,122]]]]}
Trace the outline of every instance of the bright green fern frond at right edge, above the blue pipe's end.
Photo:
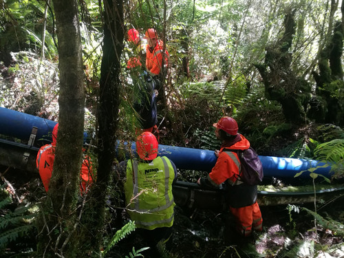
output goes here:
{"type": "Polygon", "coordinates": [[[334,139],[330,142],[319,144],[314,150],[316,160],[339,162],[344,159],[344,139],[334,139]]]}

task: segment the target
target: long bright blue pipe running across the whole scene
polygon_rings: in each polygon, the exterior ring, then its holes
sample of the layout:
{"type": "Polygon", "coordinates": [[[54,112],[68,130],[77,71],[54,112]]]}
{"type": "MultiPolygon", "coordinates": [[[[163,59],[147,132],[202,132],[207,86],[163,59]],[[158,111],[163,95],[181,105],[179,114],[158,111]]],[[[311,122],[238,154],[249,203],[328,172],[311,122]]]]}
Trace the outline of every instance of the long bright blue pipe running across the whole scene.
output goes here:
{"type": "MultiPolygon", "coordinates": [[[[30,140],[35,132],[36,140],[51,140],[51,132],[56,122],[24,114],[19,111],[0,107],[0,134],[21,140],[30,140]]],[[[135,155],[135,143],[118,144],[117,151],[123,150],[126,155],[131,152],[135,155]]],[[[159,145],[158,155],[166,155],[178,169],[210,172],[217,160],[214,151],[191,149],[159,145]]],[[[279,158],[259,156],[264,168],[264,177],[267,178],[294,178],[294,175],[304,171],[299,178],[310,178],[310,168],[316,168],[318,173],[327,178],[331,176],[330,164],[316,160],[301,160],[294,158],[279,158]]]]}

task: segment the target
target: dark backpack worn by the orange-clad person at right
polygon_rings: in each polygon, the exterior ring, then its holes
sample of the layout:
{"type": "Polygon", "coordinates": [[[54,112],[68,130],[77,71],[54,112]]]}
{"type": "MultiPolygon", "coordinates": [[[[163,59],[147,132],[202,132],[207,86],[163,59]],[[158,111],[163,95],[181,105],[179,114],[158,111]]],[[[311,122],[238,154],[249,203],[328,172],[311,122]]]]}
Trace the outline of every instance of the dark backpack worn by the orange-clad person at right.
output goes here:
{"type": "Polygon", "coordinates": [[[251,186],[259,184],[263,180],[264,173],[263,165],[255,150],[250,147],[244,151],[239,149],[230,149],[230,151],[237,153],[239,157],[241,163],[239,176],[241,181],[251,186]]]}

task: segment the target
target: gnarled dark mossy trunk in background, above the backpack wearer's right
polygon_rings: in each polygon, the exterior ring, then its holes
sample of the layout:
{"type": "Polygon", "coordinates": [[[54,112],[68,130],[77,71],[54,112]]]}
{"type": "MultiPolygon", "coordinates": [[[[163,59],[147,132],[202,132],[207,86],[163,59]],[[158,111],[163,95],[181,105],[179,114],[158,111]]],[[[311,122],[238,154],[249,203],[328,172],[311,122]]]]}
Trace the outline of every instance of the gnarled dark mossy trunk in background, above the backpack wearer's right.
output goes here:
{"type": "Polygon", "coordinates": [[[264,63],[255,64],[263,78],[265,96],[281,104],[288,122],[306,122],[305,110],[310,99],[310,85],[292,70],[290,47],[295,33],[294,11],[284,19],[285,32],[275,45],[266,47],[264,63]]]}

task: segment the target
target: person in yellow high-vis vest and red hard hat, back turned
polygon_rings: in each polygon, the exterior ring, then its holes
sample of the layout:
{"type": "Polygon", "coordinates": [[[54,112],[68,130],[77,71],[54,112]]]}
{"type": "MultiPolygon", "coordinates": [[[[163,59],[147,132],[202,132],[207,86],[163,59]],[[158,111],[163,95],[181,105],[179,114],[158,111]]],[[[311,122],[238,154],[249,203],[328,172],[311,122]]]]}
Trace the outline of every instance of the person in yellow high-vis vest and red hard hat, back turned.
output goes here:
{"type": "Polygon", "coordinates": [[[135,232],[144,236],[144,244],[151,247],[151,257],[156,257],[156,244],[167,241],[172,233],[175,206],[172,184],[177,169],[166,156],[158,157],[158,140],[153,133],[141,133],[136,150],[138,159],[119,164],[125,173],[125,204],[138,228],[135,232]]]}

